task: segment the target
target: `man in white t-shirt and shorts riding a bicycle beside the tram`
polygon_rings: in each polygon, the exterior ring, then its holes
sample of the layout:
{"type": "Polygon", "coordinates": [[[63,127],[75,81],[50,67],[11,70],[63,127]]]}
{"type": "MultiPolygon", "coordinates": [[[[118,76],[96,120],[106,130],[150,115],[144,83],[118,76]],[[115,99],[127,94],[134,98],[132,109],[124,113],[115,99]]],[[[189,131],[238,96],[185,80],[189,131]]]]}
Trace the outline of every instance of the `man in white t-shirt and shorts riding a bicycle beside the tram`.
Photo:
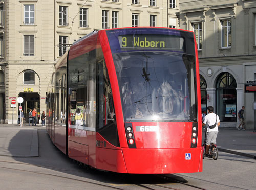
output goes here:
{"type": "Polygon", "coordinates": [[[219,132],[218,126],[220,125],[220,119],[219,116],[214,113],[214,107],[208,106],[207,107],[208,114],[204,117],[203,126],[205,124],[208,125],[207,128],[207,134],[206,134],[206,150],[205,150],[205,156],[209,156],[209,149],[210,144],[216,144],[216,138],[217,134],[219,132]],[[214,128],[209,128],[209,126],[214,125],[216,123],[216,126],[214,128]]]}

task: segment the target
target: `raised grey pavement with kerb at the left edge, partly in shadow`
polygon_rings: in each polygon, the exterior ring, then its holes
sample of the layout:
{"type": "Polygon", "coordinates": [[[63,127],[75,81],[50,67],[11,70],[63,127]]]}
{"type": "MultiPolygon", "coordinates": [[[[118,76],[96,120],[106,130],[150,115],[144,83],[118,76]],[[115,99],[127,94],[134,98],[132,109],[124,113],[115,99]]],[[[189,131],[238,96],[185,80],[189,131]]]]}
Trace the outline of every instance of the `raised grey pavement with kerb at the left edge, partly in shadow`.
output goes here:
{"type": "Polygon", "coordinates": [[[39,156],[37,128],[0,125],[0,155],[12,157],[39,156]]]}

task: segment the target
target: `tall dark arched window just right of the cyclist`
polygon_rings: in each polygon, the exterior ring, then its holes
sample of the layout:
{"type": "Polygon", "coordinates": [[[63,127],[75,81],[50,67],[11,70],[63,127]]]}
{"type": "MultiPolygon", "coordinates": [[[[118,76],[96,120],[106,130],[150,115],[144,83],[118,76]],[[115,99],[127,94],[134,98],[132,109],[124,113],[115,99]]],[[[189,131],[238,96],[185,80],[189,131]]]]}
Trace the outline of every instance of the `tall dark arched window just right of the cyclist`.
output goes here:
{"type": "Polygon", "coordinates": [[[220,121],[237,122],[237,82],[230,73],[221,73],[216,83],[216,110],[220,121]]]}

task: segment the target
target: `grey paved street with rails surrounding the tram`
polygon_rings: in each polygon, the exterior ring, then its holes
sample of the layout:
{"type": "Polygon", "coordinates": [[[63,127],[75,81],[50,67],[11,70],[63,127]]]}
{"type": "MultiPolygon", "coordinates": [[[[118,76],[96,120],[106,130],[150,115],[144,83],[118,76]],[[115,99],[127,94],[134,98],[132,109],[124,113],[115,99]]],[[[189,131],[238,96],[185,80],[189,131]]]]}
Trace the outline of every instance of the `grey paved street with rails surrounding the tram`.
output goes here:
{"type": "Polygon", "coordinates": [[[256,133],[221,129],[218,147],[225,152],[219,152],[216,161],[205,158],[203,172],[169,174],[163,180],[162,175],[122,175],[83,168],[53,146],[46,128],[1,125],[0,189],[165,189],[161,185],[195,189],[187,184],[203,189],[255,189],[256,160],[252,156],[256,156],[256,133]]]}

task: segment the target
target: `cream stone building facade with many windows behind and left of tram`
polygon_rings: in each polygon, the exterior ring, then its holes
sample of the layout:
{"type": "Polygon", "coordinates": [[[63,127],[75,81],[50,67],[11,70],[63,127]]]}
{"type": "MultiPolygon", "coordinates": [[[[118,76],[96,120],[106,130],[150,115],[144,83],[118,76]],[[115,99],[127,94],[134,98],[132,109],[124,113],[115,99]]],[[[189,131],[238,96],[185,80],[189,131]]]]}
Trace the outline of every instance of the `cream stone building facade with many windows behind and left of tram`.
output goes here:
{"type": "Polygon", "coordinates": [[[29,109],[46,111],[54,65],[75,40],[108,28],[177,28],[179,0],[4,0],[0,13],[0,122],[12,124],[18,97],[26,119],[29,109]]]}

